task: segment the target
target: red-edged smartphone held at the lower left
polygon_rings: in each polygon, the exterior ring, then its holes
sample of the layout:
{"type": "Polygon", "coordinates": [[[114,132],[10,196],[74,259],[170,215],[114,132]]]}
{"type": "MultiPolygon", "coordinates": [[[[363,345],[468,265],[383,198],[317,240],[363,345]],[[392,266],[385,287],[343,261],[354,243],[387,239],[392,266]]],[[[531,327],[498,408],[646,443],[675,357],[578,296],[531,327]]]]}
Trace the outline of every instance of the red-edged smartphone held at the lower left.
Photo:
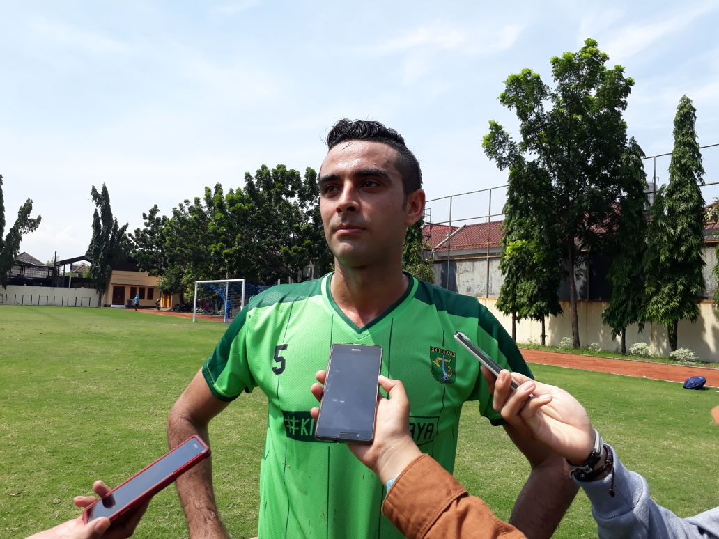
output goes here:
{"type": "Polygon", "coordinates": [[[83,522],[99,517],[115,520],[155,496],[178,476],[209,456],[210,448],[207,444],[198,436],[191,436],[112,489],[105,497],[88,505],[83,511],[83,522]]]}

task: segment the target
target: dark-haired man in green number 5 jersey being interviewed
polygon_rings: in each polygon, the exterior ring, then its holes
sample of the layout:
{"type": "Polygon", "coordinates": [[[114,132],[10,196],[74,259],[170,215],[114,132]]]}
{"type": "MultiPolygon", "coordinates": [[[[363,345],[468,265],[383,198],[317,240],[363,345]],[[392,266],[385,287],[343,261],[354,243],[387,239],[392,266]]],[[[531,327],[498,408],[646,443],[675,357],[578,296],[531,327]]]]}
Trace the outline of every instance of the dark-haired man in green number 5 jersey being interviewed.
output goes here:
{"type": "MultiPolygon", "coordinates": [[[[332,343],[383,347],[382,374],[403,381],[417,445],[454,468],[462,405],[479,401],[503,420],[476,359],[457,346],[466,333],[500,364],[531,374],[516,344],[477,298],[402,272],[406,229],[423,213],[421,171],[403,138],[379,122],[341,120],[327,137],[319,173],[324,233],[335,271],[278,285],[238,313],[214,353],[175,403],[170,446],[199,434],[215,415],[260,387],[269,400],[260,471],[260,538],[393,538],[381,514],[383,485],[342,443],[317,441],[307,387],[326,368],[332,343]]],[[[562,459],[504,425],[531,464],[510,522],[549,537],[576,493],[562,459]]],[[[486,456],[487,466],[493,457],[486,456]]],[[[205,461],[178,479],[192,538],[224,538],[205,461]]]]}

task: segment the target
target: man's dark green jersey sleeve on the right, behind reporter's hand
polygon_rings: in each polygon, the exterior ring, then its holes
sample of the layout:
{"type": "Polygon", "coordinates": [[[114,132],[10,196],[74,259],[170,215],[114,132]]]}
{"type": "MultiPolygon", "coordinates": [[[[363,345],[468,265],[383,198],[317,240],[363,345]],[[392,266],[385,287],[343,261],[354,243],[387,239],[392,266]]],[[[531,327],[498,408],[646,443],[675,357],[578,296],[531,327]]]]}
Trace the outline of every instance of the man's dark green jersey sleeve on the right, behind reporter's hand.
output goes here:
{"type": "MultiPolygon", "coordinates": [[[[477,302],[477,305],[479,313],[477,315],[476,342],[480,348],[505,369],[520,372],[525,376],[534,378],[514,339],[509,336],[502,324],[484,305],[479,302],[477,302]]],[[[489,419],[492,425],[505,425],[506,421],[492,407],[493,397],[490,393],[489,384],[487,384],[487,380],[485,380],[481,372],[477,377],[470,400],[480,402],[480,413],[489,419]]]]}

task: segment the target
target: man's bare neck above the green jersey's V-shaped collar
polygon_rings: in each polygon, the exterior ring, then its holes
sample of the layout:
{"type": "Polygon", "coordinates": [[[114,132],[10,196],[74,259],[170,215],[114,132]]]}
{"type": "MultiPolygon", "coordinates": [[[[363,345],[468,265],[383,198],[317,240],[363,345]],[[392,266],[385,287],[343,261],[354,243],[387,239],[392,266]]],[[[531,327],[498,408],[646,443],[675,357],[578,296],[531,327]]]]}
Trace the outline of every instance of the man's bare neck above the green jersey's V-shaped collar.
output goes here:
{"type": "Polygon", "coordinates": [[[388,268],[347,268],[335,259],[329,285],[334,303],[354,324],[362,328],[402,297],[409,278],[401,266],[388,268]]]}

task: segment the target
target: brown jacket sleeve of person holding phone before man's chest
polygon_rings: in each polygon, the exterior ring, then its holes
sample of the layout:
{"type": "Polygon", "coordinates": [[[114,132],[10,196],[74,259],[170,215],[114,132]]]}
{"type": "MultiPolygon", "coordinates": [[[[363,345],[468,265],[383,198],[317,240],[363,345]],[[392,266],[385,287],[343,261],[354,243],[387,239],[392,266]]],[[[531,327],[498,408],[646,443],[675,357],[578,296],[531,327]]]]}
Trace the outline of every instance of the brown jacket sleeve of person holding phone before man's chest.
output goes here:
{"type": "Polygon", "coordinates": [[[526,539],[429,455],[418,456],[395,479],[382,512],[411,539],[526,539]]]}

